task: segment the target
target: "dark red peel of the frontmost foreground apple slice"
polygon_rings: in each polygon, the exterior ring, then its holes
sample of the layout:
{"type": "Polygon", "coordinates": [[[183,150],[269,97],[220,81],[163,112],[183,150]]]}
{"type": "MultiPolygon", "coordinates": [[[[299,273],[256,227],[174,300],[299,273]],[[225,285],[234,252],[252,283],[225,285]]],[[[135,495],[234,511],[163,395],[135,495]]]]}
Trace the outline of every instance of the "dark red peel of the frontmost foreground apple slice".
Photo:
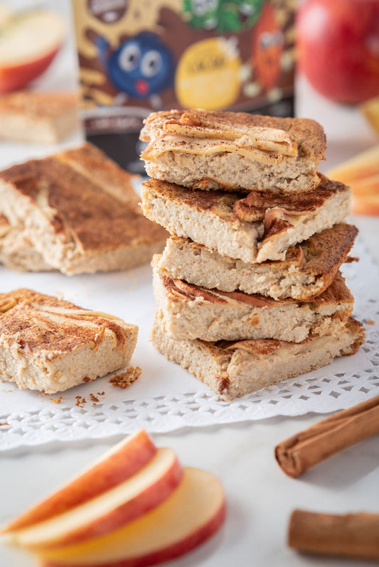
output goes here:
{"type": "MultiPolygon", "coordinates": [[[[172,546],[144,556],[112,561],[112,563],[96,563],[95,565],[88,564],[85,567],[149,567],[157,565],[158,563],[163,563],[164,561],[170,561],[171,559],[188,553],[188,551],[192,551],[213,536],[213,534],[215,534],[223,525],[223,522],[225,521],[225,514],[226,505],[224,500],[222,506],[218,509],[218,512],[207,524],[201,526],[197,531],[193,532],[191,536],[176,542],[176,544],[172,546]]],[[[39,564],[41,567],[75,567],[73,563],[60,563],[43,558],[40,559],[39,564]]]]}

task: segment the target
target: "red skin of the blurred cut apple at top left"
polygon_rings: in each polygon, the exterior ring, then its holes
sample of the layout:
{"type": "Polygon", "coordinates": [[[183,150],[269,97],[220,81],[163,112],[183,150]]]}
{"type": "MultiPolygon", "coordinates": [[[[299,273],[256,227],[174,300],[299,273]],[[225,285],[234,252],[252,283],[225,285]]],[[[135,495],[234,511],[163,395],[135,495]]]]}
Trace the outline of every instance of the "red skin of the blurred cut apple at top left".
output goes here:
{"type": "Polygon", "coordinates": [[[55,50],[40,59],[28,61],[14,67],[0,68],[0,92],[4,93],[20,89],[27,85],[28,82],[42,75],[55,58],[55,55],[57,55],[60,47],[61,45],[58,45],[55,50]]]}

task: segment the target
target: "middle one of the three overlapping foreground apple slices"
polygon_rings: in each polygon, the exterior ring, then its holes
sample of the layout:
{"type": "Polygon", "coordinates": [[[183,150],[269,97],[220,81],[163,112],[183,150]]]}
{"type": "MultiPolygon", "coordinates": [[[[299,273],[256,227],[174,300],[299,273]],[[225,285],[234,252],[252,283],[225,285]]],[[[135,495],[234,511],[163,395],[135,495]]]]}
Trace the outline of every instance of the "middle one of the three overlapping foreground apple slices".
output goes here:
{"type": "Polygon", "coordinates": [[[149,463],[128,480],[46,522],[11,532],[10,541],[42,551],[108,534],[161,504],[182,476],[174,450],[159,448],[149,463]]]}

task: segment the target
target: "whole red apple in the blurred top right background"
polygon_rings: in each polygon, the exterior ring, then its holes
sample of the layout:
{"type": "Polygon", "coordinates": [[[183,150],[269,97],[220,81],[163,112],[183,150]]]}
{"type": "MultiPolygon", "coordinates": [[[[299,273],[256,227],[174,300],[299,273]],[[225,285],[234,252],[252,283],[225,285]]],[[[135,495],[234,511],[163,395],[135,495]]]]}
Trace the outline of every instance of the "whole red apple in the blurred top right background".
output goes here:
{"type": "Polygon", "coordinates": [[[299,69],[336,102],[379,95],[379,0],[305,0],[297,14],[299,69]]]}

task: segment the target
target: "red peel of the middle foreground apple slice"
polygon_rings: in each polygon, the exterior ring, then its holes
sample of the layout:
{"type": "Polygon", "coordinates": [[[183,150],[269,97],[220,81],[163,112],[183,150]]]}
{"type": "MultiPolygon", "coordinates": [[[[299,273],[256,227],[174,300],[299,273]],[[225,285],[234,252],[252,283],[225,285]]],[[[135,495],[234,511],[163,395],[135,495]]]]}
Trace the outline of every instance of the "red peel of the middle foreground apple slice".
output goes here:
{"type": "Polygon", "coordinates": [[[179,485],[183,477],[183,469],[176,458],[164,477],[159,478],[149,487],[140,492],[133,500],[129,500],[112,510],[106,516],[94,519],[91,524],[70,531],[65,537],[48,541],[36,546],[28,546],[31,551],[46,551],[57,547],[80,544],[87,539],[105,536],[111,531],[123,527],[128,522],[146,514],[168,498],[179,485]]]}

